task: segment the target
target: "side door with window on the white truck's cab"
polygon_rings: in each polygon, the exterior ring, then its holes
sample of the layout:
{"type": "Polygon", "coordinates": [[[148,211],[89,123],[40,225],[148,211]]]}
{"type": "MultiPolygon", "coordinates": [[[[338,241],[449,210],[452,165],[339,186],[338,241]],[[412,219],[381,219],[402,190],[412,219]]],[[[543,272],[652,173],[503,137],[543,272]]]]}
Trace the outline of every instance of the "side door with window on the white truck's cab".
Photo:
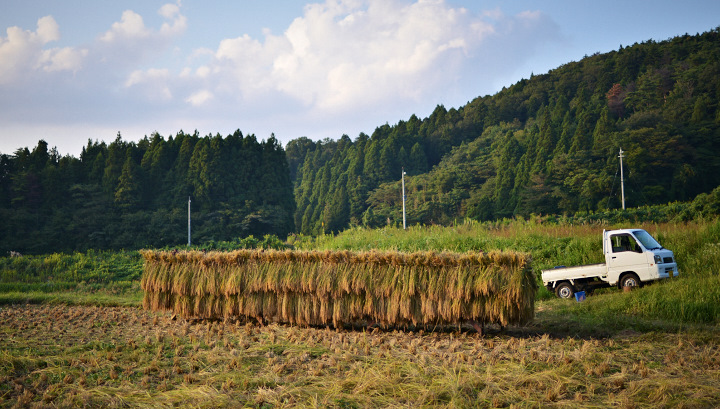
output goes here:
{"type": "Polygon", "coordinates": [[[640,280],[647,280],[650,264],[643,247],[629,233],[610,235],[608,249],[608,278],[611,284],[617,282],[620,274],[633,271],[640,280]]]}

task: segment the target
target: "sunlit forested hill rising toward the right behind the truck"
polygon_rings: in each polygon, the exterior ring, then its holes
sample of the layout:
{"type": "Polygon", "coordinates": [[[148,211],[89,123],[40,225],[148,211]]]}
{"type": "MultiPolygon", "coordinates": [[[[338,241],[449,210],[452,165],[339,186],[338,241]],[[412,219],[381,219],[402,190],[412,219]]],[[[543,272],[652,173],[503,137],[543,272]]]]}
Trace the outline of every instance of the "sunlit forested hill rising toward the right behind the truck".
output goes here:
{"type": "Polygon", "coordinates": [[[286,148],[296,229],[448,223],[692,199],[720,184],[720,29],[596,54],[368,136],[286,148]]]}

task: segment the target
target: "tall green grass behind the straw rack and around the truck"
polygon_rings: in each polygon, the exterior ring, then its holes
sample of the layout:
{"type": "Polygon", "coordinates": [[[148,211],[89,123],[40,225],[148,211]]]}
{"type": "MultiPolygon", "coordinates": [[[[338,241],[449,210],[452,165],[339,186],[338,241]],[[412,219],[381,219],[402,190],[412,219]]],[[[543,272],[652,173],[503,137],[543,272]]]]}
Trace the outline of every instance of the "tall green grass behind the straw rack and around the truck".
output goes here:
{"type": "MultiPolygon", "coordinates": [[[[393,249],[412,251],[492,251],[513,250],[532,256],[535,277],[540,270],[558,265],[604,262],[603,229],[642,228],[673,250],[680,277],[647,286],[630,294],[603,295],[601,301],[577,306],[578,313],[594,309],[593,314],[626,314],[648,319],[712,323],[720,321],[720,220],[682,223],[607,222],[570,225],[547,223],[542,219],[506,220],[496,223],[468,221],[453,227],[415,226],[402,230],[384,228],[350,229],[338,235],[316,238],[296,237],[293,244],[317,249],[393,249]]],[[[612,292],[611,292],[612,293],[612,292]]],[[[540,299],[550,299],[544,287],[540,299]]]]}

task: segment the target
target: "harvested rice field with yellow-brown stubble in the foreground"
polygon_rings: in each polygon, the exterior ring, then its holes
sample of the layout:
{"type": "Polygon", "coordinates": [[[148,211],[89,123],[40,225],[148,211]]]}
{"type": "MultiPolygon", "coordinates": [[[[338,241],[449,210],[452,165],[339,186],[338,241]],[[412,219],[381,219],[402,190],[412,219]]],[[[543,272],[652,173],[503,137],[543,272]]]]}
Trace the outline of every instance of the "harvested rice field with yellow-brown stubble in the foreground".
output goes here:
{"type": "MultiPolygon", "coordinates": [[[[715,327],[298,327],[0,307],[0,407],[717,407],[715,327]]],[[[544,310],[544,311],[543,311],[544,310]]]]}

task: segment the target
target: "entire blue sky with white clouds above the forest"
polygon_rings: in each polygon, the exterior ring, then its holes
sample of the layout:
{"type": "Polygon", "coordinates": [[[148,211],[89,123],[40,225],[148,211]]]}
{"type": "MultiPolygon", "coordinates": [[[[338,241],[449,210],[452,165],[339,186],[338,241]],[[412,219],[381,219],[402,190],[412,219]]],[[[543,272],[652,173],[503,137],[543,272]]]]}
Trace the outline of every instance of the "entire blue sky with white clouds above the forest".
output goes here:
{"type": "Polygon", "coordinates": [[[717,0],[0,0],[0,153],[180,130],[354,139],[718,26],[717,0]]]}

